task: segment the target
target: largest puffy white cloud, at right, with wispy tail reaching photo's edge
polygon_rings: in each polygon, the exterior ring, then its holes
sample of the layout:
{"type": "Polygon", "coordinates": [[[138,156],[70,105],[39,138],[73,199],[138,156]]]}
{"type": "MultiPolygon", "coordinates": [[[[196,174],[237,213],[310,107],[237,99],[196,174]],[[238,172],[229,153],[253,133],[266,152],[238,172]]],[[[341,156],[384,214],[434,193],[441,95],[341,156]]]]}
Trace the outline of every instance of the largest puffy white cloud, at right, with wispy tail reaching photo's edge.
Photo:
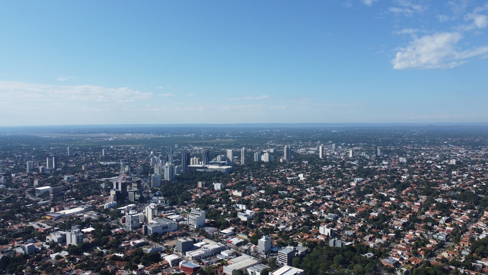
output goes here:
{"type": "Polygon", "coordinates": [[[463,38],[460,32],[442,32],[414,37],[405,48],[399,48],[391,61],[394,69],[452,68],[466,63],[466,59],[488,52],[488,46],[468,50],[456,49],[463,38]]]}

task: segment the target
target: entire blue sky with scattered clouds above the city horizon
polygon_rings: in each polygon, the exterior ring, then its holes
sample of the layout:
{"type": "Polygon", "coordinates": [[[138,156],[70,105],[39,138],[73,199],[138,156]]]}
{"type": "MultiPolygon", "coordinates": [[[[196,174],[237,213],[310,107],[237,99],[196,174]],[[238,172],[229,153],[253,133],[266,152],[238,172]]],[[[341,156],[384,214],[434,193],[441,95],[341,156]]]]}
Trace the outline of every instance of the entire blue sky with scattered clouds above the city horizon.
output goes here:
{"type": "Polygon", "coordinates": [[[0,126],[488,122],[488,1],[0,1],[0,126]]]}

